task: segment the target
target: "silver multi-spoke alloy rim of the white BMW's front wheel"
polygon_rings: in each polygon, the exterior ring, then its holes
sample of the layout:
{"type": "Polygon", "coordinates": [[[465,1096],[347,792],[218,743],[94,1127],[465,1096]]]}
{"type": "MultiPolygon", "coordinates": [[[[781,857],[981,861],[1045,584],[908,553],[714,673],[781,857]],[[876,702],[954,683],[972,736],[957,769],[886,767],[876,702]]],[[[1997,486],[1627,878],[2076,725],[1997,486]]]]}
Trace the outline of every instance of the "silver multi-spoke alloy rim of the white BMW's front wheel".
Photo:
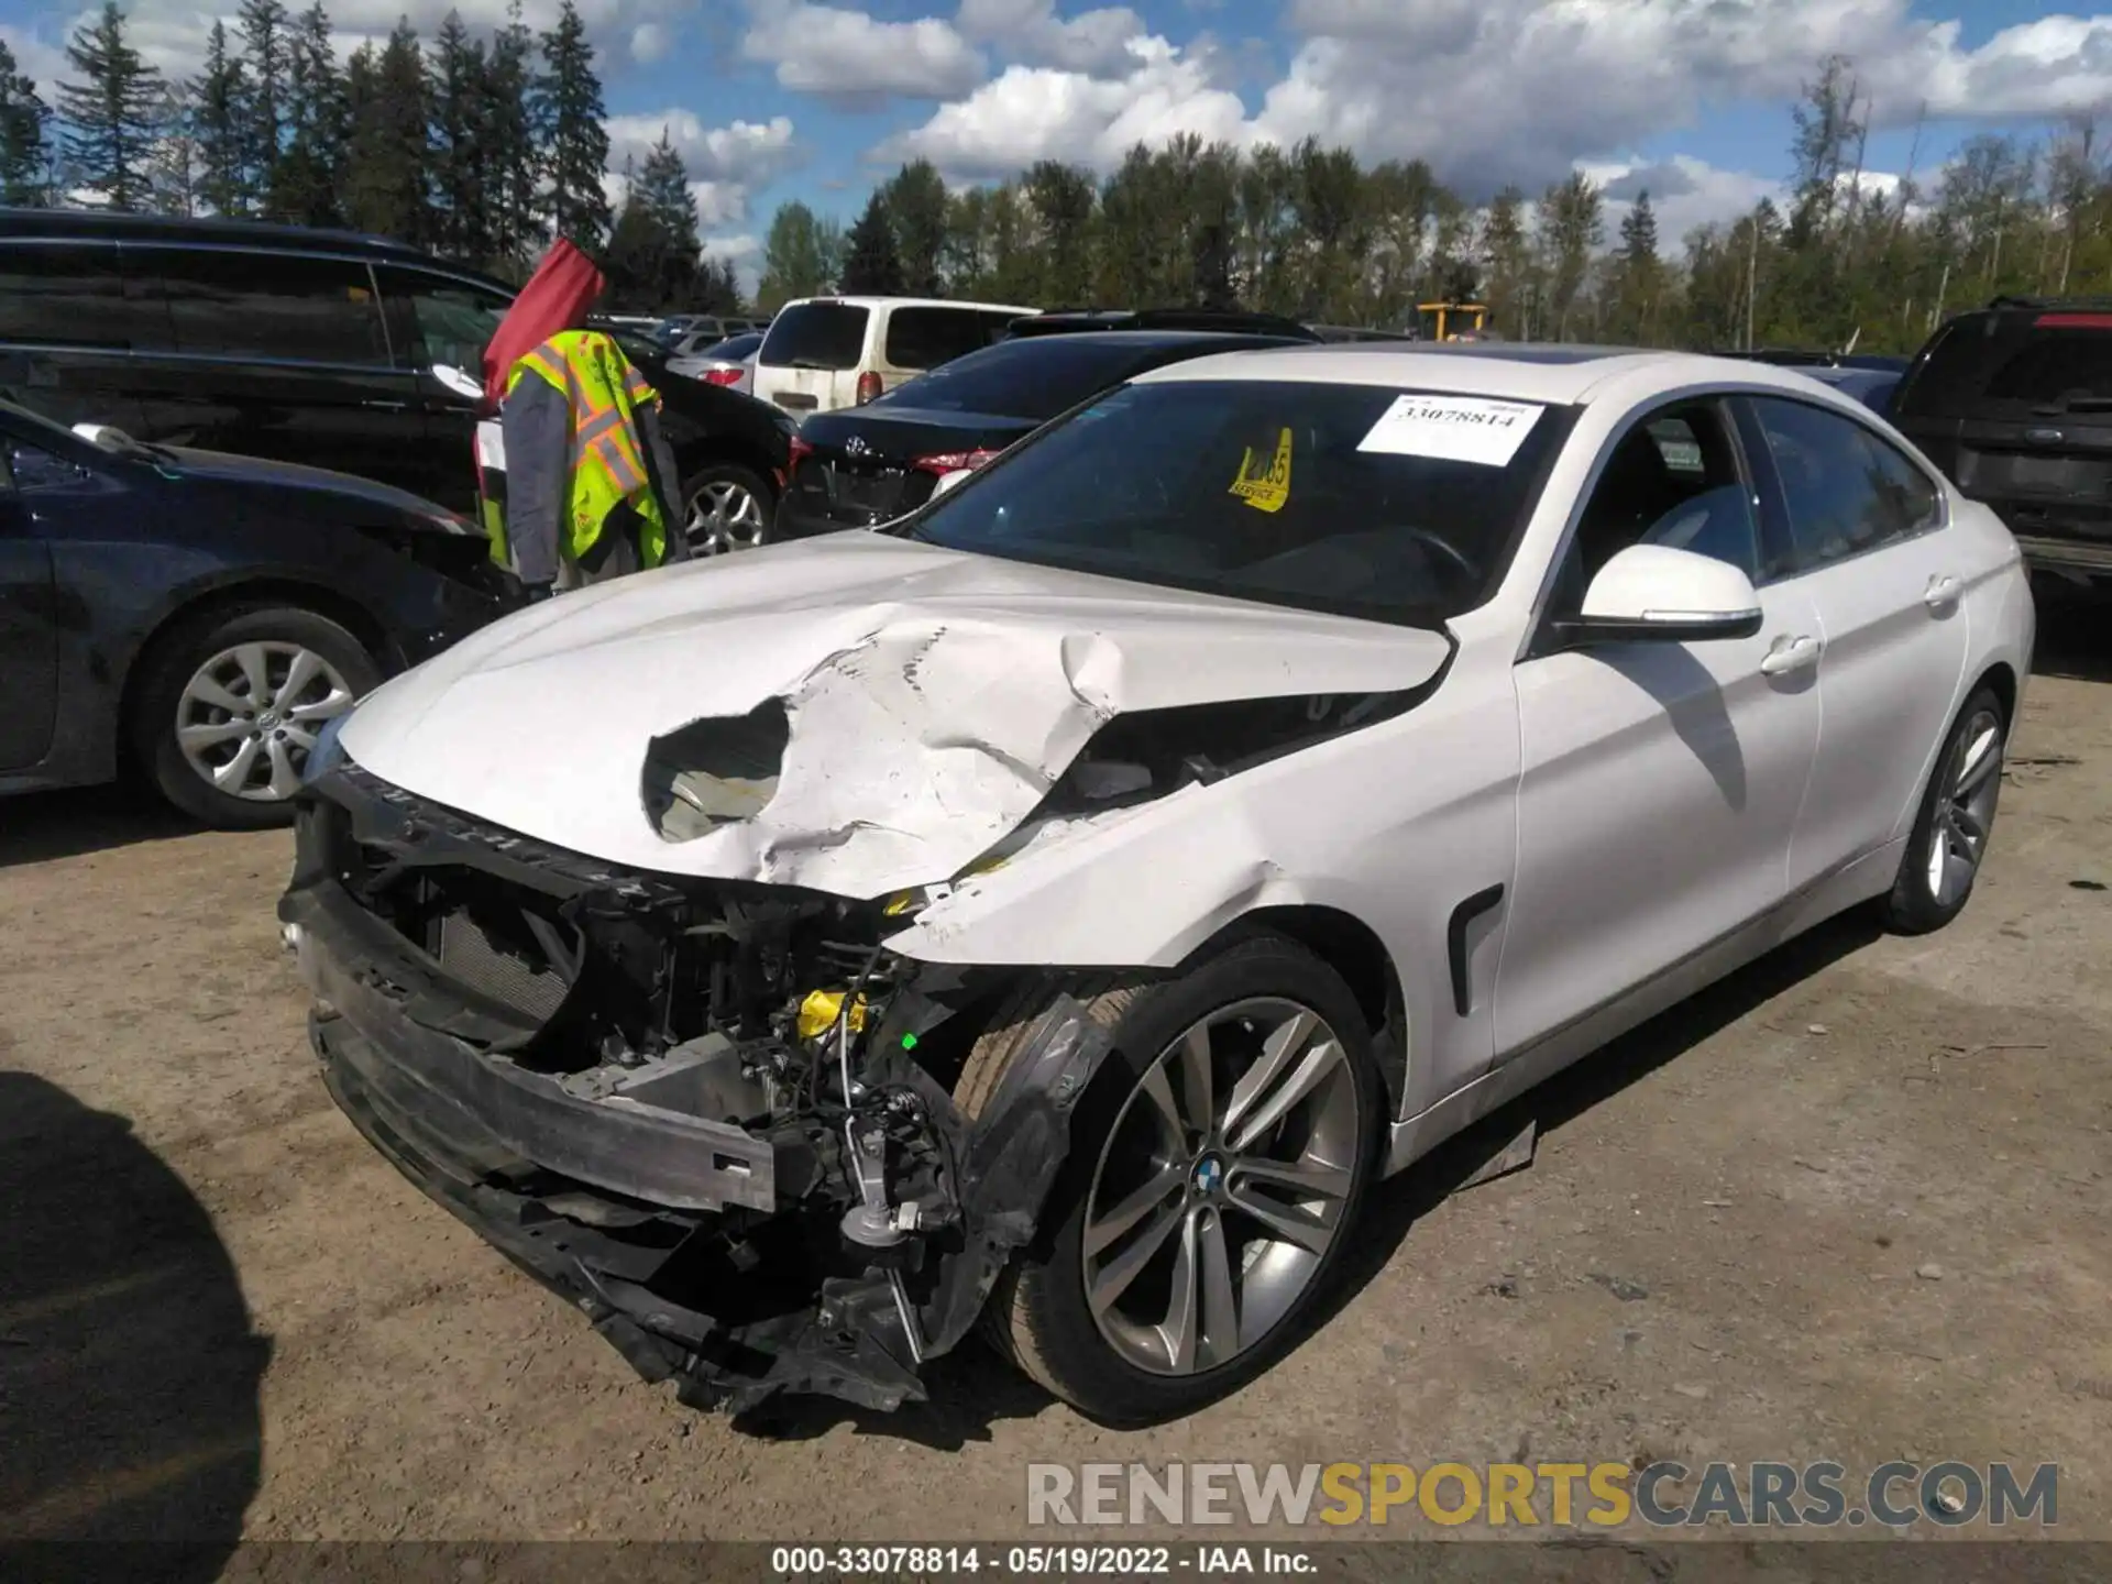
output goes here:
{"type": "Polygon", "coordinates": [[[1297,1001],[1212,1012],[1145,1071],[1086,1198],[1086,1305],[1153,1375],[1259,1343],[1341,1231],[1364,1119],[1350,1054],[1297,1001]]]}

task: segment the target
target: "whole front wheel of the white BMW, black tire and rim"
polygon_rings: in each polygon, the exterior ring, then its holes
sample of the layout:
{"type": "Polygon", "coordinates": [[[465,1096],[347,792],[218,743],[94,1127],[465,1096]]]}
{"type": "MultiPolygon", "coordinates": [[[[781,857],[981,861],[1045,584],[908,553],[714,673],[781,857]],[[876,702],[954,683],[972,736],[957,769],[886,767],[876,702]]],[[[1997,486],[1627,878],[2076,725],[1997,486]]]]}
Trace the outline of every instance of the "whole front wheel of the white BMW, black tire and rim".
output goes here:
{"type": "MultiPolygon", "coordinates": [[[[963,1111],[997,1092],[1050,993],[978,1041],[963,1111]]],[[[1299,1341],[1377,1172],[1383,1086],[1356,997],[1280,936],[1088,1007],[1115,1050],[1073,1113],[1041,1231],[984,1318],[1088,1417],[1159,1423],[1299,1341]]]]}

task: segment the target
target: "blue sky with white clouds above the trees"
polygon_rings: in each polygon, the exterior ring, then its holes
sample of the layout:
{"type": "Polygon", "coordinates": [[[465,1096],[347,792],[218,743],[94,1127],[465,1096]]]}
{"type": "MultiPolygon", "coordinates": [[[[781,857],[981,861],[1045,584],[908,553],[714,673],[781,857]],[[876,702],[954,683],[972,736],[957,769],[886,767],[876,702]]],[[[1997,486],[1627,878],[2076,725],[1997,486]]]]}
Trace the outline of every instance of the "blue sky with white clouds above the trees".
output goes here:
{"type": "MultiPolygon", "coordinates": [[[[0,0],[0,38],[51,80],[82,4],[0,0]]],[[[399,13],[431,36],[450,8],[477,30],[507,8],[325,4],[346,49],[399,13]]],[[[555,4],[524,0],[530,25],[555,4]]],[[[1181,131],[1316,135],[1364,161],[1426,158],[1472,196],[1502,182],[1538,190],[1571,167],[1614,199],[1647,186],[1660,232],[1677,241],[1780,184],[1789,106],[1829,51],[1856,65],[1880,180],[1905,171],[1909,150],[1926,182],[1975,131],[2036,131],[2112,106],[2112,13],[2030,0],[579,4],[602,51],[615,163],[667,127],[708,245],[748,272],[779,203],[849,220],[910,154],[963,184],[1041,156],[1107,169],[1128,144],[1181,131]]],[[[220,6],[232,13],[232,0],[220,6]]],[[[177,74],[194,70],[215,8],[129,4],[150,59],[177,74]]]]}

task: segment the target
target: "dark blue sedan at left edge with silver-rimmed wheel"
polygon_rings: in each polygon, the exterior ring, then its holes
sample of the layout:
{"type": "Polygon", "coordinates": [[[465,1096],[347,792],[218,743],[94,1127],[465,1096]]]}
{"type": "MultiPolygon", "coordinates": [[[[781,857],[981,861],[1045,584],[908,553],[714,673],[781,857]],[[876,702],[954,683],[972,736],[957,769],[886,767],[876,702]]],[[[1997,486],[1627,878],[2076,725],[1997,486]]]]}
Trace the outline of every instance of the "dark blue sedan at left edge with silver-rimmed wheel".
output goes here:
{"type": "Polygon", "coordinates": [[[285,824],[325,720],[515,600],[403,490],[0,403],[0,794],[131,765],[207,824],[285,824]]]}

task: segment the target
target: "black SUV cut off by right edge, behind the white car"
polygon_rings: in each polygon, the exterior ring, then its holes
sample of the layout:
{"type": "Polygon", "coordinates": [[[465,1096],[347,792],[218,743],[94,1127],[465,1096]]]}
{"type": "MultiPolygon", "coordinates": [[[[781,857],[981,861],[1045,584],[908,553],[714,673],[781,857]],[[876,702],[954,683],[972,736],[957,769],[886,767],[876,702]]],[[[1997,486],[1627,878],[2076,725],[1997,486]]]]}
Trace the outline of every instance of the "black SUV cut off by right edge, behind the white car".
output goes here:
{"type": "Polygon", "coordinates": [[[1958,315],[1913,355],[1892,422],[2034,566],[2112,579],[2112,300],[1958,315]]]}

